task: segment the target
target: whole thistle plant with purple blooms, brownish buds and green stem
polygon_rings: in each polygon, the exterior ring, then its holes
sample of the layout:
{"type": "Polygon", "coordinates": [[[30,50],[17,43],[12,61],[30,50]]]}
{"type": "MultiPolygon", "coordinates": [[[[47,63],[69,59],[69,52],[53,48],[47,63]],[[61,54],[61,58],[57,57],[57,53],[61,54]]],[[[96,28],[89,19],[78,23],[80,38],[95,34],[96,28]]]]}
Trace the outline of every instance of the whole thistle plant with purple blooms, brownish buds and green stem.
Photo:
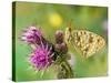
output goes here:
{"type": "Polygon", "coordinates": [[[68,60],[68,46],[64,34],[61,30],[56,32],[56,43],[51,43],[43,38],[42,32],[37,27],[29,27],[22,34],[21,39],[34,45],[29,56],[29,62],[36,71],[43,71],[51,64],[58,65],[58,79],[69,79],[73,76],[72,69],[68,60]]]}

